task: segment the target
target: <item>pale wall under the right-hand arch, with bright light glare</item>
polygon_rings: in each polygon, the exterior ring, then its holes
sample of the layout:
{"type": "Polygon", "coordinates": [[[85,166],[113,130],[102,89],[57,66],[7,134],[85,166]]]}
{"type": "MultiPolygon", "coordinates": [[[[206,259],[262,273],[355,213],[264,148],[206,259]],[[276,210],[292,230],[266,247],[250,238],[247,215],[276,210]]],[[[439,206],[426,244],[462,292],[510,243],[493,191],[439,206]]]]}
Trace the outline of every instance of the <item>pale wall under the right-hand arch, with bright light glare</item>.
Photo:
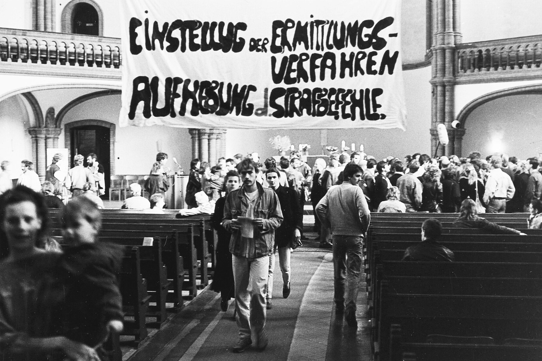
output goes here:
{"type": "Polygon", "coordinates": [[[463,156],[474,150],[484,156],[537,156],[542,152],[542,95],[513,95],[483,104],[470,113],[464,127],[463,156]]]}

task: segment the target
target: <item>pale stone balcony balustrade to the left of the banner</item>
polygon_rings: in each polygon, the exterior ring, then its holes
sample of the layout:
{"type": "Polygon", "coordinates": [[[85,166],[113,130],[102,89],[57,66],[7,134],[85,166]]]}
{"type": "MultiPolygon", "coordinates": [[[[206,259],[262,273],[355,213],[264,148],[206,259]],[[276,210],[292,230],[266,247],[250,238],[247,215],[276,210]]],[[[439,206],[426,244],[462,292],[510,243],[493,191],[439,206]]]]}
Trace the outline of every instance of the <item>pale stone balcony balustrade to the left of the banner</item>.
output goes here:
{"type": "Polygon", "coordinates": [[[120,39],[0,28],[2,62],[118,69],[120,39]]]}

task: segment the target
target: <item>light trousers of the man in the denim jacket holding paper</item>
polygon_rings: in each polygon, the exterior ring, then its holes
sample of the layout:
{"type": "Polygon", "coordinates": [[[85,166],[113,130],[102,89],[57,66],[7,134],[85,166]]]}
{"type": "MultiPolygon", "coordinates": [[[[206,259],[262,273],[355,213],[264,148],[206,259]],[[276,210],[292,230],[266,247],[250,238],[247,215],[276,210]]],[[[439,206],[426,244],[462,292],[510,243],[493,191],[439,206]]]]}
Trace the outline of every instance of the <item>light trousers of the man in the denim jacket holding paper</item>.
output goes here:
{"type": "Polygon", "coordinates": [[[266,293],[269,256],[246,258],[232,255],[235,282],[235,307],[240,338],[250,331],[261,334],[266,325],[266,293]]]}

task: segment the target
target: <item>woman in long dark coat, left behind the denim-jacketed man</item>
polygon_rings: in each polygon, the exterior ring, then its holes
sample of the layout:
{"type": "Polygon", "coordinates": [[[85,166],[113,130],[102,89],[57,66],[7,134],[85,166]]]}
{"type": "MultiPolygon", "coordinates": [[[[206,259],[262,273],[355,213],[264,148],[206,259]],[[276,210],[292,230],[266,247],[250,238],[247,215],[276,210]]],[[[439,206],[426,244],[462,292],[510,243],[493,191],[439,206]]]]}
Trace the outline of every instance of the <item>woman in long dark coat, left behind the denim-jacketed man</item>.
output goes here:
{"type": "Polygon", "coordinates": [[[211,290],[220,292],[222,298],[220,308],[224,312],[228,310],[229,299],[235,298],[235,287],[233,265],[229,250],[231,232],[226,231],[222,227],[222,218],[224,216],[226,196],[239,187],[241,187],[241,176],[235,170],[230,170],[224,177],[223,192],[226,192],[226,195],[216,201],[215,213],[211,215],[212,226],[215,228],[218,238],[216,243],[216,270],[211,290]]]}

